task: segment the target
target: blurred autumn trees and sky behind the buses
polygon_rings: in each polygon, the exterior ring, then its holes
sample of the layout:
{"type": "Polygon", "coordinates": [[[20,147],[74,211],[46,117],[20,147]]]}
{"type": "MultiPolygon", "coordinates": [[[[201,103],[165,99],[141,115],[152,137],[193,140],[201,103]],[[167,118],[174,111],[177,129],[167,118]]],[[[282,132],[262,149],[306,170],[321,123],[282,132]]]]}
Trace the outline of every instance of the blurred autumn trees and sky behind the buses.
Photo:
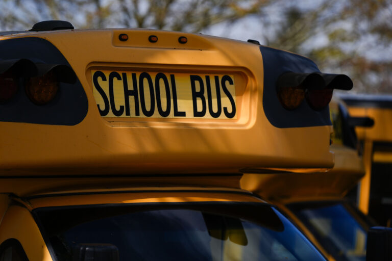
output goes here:
{"type": "Polygon", "coordinates": [[[249,17],[250,38],[349,74],[357,92],[392,92],[390,0],[0,0],[1,30],[61,19],[76,28],[199,33],[249,17]]]}

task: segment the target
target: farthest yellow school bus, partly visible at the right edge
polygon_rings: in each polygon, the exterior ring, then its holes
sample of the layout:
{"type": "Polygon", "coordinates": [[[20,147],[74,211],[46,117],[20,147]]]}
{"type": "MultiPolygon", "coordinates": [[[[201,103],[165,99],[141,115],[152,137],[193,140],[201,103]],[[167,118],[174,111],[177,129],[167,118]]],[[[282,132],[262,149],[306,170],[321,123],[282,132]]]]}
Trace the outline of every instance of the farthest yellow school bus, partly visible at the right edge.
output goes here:
{"type": "Polygon", "coordinates": [[[374,119],[371,128],[357,127],[366,174],[360,182],[359,207],[379,224],[392,220],[392,96],[341,95],[350,114],[374,119]]]}

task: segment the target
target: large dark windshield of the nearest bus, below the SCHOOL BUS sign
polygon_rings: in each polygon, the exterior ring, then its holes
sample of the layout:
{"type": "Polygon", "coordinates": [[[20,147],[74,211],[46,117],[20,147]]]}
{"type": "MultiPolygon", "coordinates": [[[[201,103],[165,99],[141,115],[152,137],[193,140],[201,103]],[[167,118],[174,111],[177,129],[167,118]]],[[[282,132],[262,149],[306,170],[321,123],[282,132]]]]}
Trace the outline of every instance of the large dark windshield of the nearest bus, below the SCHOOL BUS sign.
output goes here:
{"type": "Polygon", "coordinates": [[[275,208],[260,203],[44,207],[34,215],[54,259],[110,244],[119,260],[325,260],[275,208]]]}

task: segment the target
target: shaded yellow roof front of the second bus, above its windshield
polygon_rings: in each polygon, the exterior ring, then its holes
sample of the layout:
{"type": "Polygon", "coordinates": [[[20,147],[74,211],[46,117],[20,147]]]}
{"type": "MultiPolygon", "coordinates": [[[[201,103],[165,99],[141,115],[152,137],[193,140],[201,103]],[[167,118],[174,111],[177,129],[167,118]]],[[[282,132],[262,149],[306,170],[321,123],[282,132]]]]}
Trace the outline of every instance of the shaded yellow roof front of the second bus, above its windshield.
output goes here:
{"type": "Polygon", "coordinates": [[[364,175],[358,151],[342,145],[332,145],[335,166],[329,172],[244,174],[241,188],[266,199],[298,199],[341,197],[364,175]]]}

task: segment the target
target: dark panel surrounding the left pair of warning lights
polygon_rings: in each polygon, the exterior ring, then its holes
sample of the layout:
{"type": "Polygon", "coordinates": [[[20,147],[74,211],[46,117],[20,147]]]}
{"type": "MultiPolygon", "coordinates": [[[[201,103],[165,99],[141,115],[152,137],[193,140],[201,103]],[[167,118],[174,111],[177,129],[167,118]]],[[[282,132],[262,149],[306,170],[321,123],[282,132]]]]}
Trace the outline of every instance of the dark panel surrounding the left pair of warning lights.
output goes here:
{"type": "MultiPolygon", "coordinates": [[[[49,41],[36,37],[0,41],[0,60],[28,59],[34,63],[70,67],[61,52],[49,41]]],[[[76,125],[87,115],[88,100],[83,86],[60,83],[59,92],[47,105],[35,105],[18,79],[18,91],[8,102],[0,103],[0,121],[51,125],[76,125]]]]}

